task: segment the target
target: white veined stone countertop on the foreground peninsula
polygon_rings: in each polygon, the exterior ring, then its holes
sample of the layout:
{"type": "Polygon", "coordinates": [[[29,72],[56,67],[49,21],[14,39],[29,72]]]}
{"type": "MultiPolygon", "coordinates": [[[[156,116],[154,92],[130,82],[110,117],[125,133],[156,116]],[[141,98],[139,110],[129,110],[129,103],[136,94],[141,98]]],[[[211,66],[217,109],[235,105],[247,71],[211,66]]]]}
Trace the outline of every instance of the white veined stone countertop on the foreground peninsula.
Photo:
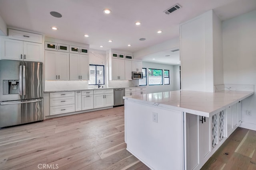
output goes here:
{"type": "Polygon", "coordinates": [[[210,117],[252,94],[254,92],[220,91],[213,93],[178,90],[125,96],[123,98],[134,102],[210,117]]]}

